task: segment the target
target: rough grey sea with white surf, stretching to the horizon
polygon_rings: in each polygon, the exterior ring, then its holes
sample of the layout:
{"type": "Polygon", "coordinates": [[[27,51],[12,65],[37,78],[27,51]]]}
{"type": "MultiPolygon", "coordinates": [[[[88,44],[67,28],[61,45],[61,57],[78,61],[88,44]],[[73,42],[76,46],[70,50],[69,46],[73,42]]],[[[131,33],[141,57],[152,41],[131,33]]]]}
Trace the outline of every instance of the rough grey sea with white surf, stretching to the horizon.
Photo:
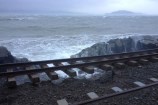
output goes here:
{"type": "Polygon", "coordinates": [[[0,16],[0,46],[31,61],[69,58],[98,42],[158,35],[158,16],[0,16]]]}

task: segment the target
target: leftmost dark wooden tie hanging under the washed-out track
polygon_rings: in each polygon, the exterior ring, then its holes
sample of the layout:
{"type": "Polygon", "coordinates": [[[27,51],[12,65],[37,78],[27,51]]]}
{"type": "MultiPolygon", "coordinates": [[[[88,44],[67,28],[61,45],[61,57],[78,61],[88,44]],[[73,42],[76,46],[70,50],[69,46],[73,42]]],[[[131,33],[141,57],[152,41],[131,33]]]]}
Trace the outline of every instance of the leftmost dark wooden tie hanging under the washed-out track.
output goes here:
{"type": "MultiPolygon", "coordinates": [[[[7,72],[13,72],[13,69],[7,69],[7,72]]],[[[14,76],[9,76],[7,78],[8,88],[14,88],[17,86],[16,78],[14,76]]]]}

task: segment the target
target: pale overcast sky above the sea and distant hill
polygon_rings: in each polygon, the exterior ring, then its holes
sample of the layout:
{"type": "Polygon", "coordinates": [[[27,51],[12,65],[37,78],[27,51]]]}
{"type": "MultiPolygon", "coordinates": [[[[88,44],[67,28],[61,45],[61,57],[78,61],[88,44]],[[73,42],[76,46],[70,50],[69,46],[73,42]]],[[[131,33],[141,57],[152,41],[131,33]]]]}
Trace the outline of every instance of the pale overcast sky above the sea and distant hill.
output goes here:
{"type": "Polygon", "coordinates": [[[158,0],[0,0],[0,13],[104,14],[116,10],[158,15],[158,0]]]}

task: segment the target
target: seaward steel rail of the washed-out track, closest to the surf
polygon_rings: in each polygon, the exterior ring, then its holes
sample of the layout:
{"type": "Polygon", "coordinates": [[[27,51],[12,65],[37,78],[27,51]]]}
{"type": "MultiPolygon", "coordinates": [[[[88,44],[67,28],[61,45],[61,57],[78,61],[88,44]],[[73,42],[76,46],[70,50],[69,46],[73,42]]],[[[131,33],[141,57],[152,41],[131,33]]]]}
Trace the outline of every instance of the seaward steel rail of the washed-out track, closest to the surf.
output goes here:
{"type": "Polygon", "coordinates": [[[141,53],[149,53],[152,51],[158,51],[156,49],[149,49],[149,50],[141,50],[137,52],[129,52],[129,53],[117,53],[111,55],[103,55],[103,56],[93,56],[93,57],[80,57],[80,58],[69,58],[69,59],[56,59],[56,60],[45,60],[45,61],[32,61],[32,62],[25,62],[25,63],[7,63],[7,64],[0,64],[0,68],[5,67],[19,67],[19,66],[29,66],[29,65],[38,65],[38,64],[49,64],[49,63],[58,63],[58,62],[74,62],[78,60],[92,60],[92,59],[99,59],[99,58],[106,58],[106,57],[113,57],[113,56],[121,56],[121,55],[133,55],[133,54],[141,54],[141,53]]]}

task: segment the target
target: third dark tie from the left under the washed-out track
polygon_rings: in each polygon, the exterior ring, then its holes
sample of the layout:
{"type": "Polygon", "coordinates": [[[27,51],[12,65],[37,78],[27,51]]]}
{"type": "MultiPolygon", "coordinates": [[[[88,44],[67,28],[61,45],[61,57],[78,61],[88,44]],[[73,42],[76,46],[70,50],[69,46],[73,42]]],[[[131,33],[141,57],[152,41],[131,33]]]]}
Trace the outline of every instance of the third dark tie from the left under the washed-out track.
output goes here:
{"type": "MultiPolygon", "coordinates": [[[[41,68],[49,68],[49,66],[47,64],[41,65],[41,68]]],[[[51,80],[57,80],[59,79],[59,76],[56,72],[52,72],[52,71],[46,71],[45,72],[47,74],[47,76],[51,79],[51,80]]]]}

